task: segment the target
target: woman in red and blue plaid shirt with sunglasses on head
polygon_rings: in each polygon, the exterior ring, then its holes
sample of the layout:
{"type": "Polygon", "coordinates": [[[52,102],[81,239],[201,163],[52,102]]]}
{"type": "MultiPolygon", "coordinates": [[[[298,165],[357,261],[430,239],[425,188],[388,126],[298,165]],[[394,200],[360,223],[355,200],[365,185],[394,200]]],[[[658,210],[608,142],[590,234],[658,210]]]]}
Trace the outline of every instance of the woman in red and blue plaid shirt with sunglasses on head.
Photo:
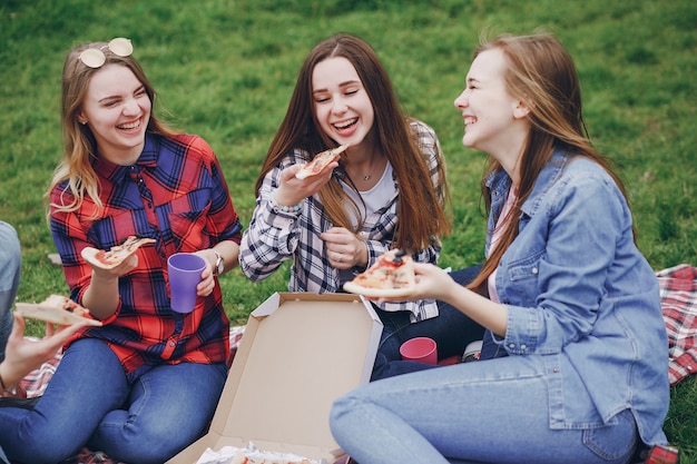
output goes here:
{"type": "Polygon", "coordinates": [[[228,319],[217,276],[237,264],[242,226],[218,160],[153,113],[155,91],[127,39],[88,43],[62,78],[65,156],[50,225],[70,297],[104,324],[81,330],[33,411],[0,408],[12,462],[56,463],[84,446],[164,463],[197,440],[227,375],[228,319]],[[112,269],[80,251],[155,239],[112,269]],[[206,260],[189,314],[169,307],[167,258],[206,260]]]}

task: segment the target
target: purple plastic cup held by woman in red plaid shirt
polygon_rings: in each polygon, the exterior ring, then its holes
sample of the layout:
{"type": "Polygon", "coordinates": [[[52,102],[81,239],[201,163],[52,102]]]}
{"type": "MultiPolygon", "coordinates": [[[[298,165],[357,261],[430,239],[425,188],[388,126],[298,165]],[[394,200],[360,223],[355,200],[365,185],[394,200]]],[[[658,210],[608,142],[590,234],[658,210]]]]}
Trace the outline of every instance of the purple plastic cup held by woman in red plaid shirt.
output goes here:
{"type": "Polygon", "coordinates": [[[192,253],[177,253],[167,259],[171,310],[184,314],[194,310],[196,286],[205,267],[206,260],[192,253]]]}

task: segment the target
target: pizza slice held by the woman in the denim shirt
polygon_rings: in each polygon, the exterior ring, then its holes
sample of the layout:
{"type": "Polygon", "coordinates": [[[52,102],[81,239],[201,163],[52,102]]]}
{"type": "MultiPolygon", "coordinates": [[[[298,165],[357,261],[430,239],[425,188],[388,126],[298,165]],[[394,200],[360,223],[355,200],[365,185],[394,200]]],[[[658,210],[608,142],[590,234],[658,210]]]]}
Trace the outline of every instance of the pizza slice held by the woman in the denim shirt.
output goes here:
{"type": "Polygon", "coordinates": [[[345,283],[344,289],[380,298],[412,295],[414,286],[414,260],[404,250],[391,249],[364,273],[345,283]]]}

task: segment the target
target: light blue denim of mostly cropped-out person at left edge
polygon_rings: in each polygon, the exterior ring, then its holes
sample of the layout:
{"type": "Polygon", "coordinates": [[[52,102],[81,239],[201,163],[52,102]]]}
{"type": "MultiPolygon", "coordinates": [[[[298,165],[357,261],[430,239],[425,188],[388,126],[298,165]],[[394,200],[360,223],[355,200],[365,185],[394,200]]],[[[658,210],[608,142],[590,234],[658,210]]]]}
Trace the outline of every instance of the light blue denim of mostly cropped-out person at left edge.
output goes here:
{"type": "Polygon", "coordinates": [[[12,332],[12,304],[19,288],[21,250],[14,228],[0,220],[0,362],[12,332]]]}

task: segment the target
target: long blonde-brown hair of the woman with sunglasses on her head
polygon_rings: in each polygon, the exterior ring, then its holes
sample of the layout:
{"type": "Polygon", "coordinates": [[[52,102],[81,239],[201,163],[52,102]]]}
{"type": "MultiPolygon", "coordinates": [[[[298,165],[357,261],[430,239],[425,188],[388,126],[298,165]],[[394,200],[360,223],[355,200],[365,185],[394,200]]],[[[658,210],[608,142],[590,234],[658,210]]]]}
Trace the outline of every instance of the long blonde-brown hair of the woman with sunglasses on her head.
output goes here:
{"type": "Polygon", "coordinates": [[[68,53],[62,71],[60,119],[63,134],[63,157],[53,171],[49,189],[45,195],[45,198],[49,201],[51,190],[58,184],[68,180],[67,190],[69,190],[72,199],[65,205],[49,205],[49,207],[55,207],[61,211],[75,211],[81,207],[86,197],[90,198],[97,208],[102,207],[99,199],[99,181],[92,168],[92,160],[98,156],[97,144],[89,126],[81,125],[78,118],[92,76],[108,65],[119,65],[130,69],[145,87],[153,105],[147,127],[149,132],[166,137],[180,134],[167,127],[155,116],[155,89],[132,55],[120,57],[111,52],[107,42],[90,42],[75,47],[68,53]],[[100,49],[106,57],[104,65],[98,68],[86,66],[79,58],[80,52],[92,48],[100,49]]]}

